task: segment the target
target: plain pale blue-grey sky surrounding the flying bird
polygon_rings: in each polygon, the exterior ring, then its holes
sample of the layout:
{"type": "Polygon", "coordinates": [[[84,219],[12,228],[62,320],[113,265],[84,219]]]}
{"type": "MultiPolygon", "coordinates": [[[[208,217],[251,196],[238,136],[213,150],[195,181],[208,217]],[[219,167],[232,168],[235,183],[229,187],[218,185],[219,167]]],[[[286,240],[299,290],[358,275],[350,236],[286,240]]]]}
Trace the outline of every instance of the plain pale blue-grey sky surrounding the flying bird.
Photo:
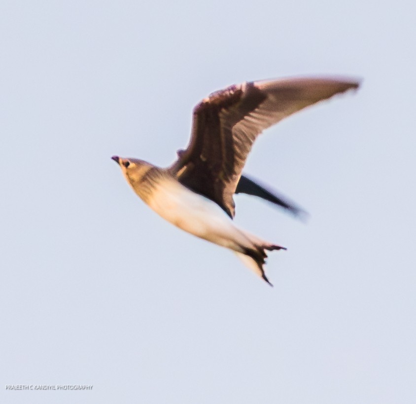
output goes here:
{"type": "Polygon", "coordinates": [[[1,403],[415,403],[411,1],[0,3],[1,403]],[[236,196],[270,288],[132,192],[245,80],[363,79],[269,129],[236,196]],[[91,384],[92,391],[5,391],[91,384]]]}

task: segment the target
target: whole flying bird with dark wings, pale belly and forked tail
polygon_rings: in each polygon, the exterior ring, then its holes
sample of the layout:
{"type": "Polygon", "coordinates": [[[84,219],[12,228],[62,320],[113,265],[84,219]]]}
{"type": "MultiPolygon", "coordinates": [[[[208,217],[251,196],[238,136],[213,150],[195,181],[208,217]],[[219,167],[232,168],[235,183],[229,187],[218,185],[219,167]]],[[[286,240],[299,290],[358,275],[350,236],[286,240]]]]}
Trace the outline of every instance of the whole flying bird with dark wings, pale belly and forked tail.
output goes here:
{"type": "Polygon", "coordinates": [[[197,237],[234,251],[272,285],[264,271],[266,251],[285,250],[233,224],[235,193],[302,210],[242,175],[254,141],[286,116],[335,94],[358,88],[352,79],[285,78],[244,82],[210,94],[193,110],[191,139],[168,168],[112,156],[137,195],[157,214],[197,237]]]}

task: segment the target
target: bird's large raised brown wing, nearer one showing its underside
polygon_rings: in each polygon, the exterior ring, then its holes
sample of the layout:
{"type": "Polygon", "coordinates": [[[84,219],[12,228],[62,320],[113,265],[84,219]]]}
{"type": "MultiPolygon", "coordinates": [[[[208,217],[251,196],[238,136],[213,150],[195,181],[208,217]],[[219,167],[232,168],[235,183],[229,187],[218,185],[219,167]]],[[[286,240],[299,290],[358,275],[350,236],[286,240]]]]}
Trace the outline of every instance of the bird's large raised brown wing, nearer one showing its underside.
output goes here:
{"type": "Polygon", "coordinates": [[[257,136],[286,116],[357,88],[352,80],[296,78],[233,85],[194,109],[189,146],[171,171],[234,217],[233,194],[257,136]]]}

